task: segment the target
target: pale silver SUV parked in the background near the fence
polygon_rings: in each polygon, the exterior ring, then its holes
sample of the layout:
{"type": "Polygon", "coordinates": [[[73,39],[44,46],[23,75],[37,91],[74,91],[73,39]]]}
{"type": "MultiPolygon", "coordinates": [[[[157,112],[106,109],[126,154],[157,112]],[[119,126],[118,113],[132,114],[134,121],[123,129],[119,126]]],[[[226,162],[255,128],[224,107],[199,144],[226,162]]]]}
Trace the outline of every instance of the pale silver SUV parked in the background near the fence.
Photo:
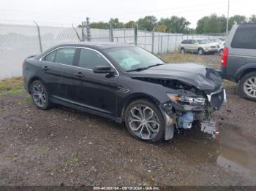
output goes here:
{"type": "Polygon", "coordinates": [[[218,52],[218,45],[211,43],[208,39],[186,39],[178,45],[181,54],[185,52],[196,52],[198,55],[205,53],[214,54],[218,52]]]}

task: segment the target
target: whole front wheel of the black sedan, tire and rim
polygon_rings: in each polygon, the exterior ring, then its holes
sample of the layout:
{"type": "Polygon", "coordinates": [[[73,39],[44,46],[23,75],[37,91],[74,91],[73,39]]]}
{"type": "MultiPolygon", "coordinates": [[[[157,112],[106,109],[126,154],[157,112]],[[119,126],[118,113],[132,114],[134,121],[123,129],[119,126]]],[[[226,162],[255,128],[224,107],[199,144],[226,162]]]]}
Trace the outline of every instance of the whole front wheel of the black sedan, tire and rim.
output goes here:
{"type": "Polygon", "coordinates": [[[147,142],[162,141],[165,120],[158,107],[147,99],[138,99],[127,106],[124,114],[129,133],[147,142]]]}

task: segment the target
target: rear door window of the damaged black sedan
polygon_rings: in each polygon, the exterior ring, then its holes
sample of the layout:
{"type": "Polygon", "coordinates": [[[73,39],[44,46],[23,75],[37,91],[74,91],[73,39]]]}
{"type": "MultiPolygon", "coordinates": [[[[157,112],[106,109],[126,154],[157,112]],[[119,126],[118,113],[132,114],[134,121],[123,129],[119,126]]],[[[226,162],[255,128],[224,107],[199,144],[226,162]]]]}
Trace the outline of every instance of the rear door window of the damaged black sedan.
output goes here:
{"type": "Polygon", "coordinates": [[[72,65],[75,56],[75,48],[60,48],[56,52],[55,61],[56,63],[63,63],[66,65],[72,65]]]}

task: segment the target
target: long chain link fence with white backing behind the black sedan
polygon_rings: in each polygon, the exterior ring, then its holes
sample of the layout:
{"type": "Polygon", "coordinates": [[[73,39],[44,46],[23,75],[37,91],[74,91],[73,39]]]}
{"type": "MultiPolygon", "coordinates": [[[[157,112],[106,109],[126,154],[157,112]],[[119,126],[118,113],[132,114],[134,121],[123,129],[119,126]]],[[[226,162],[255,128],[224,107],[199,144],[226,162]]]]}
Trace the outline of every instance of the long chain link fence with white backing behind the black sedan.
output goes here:
{"type": "MultiPolygon", "coordinates": [[[[182,39],[206,38],[211,35],[183,35],[134,28],[90,29],[91,42],[135,44],[154,54],[175,52],[182,39]]],[[[52,26],[20,26],[0,24],[0,79],[20,77],[22,62],[29,55],[39,54],[56,44],[79,42],[82,28],[52,26]],[[38,31],[39,29],[39,31],[38,31]],[[78,37],[79,36],[79,37],[78,37]]],[[[219,35],[222,36],[222,35],[219,35]]]]}

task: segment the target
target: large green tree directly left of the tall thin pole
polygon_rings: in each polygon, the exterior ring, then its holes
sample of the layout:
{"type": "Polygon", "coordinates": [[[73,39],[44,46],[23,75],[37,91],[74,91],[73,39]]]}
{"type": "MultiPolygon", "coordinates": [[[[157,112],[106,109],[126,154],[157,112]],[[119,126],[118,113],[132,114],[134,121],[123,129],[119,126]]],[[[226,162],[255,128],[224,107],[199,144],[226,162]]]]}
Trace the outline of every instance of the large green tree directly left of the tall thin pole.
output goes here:
{"type": "Polygon", "coordinates": [[[224,15],[219,17],[216,14],[212,14],[211,16],[202,17],[197,21],[196,31],[197,34],[224,33],[226,23],[224,15]]]}

